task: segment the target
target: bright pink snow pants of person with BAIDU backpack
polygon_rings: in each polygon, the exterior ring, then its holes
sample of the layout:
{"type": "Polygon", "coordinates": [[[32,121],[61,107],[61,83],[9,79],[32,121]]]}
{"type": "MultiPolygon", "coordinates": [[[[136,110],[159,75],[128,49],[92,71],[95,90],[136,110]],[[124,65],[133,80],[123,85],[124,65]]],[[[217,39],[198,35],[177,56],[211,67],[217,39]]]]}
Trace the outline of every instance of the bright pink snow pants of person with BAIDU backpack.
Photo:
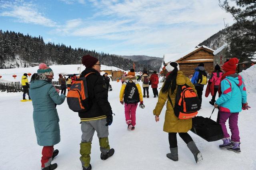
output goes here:
{"type": "Polygon", "coordinates": [[[134,104],[127,104],[124,103],[124,114],[125,114],[125,121],[127,125],[130,123],[132,126],[136,125],[136,109],[137,109],[138,103],[134,104]]]}

